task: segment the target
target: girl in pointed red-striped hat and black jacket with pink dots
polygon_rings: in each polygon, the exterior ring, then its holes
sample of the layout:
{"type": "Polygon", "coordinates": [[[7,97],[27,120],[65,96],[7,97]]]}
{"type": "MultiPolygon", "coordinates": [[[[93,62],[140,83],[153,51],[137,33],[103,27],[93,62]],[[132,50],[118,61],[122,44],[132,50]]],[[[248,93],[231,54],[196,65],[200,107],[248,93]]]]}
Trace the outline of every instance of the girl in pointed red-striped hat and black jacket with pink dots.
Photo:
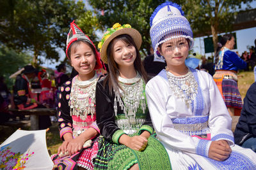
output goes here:
{"type": "Polygon", "coordinates": [[[67,165],[68,169],[76,166],[93,169],[99,135],[95,112],[95,88],[99,74],[95,70],[102,68],[102,64],[92,41],[74,22],[70,24],[66,54],[78,74],[61,85],[58,122],[63,143],[53,161],[63,169],[67,165]]]}

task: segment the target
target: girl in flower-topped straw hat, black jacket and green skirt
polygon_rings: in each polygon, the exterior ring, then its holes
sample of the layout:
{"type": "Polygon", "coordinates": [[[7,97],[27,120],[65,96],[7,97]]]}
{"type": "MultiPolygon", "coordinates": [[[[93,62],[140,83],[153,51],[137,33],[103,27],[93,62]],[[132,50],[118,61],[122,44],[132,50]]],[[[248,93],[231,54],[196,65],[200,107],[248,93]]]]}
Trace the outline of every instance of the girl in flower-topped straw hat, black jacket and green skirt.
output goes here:
{"type": "Polygon", "coordinates": [[[140,33],[129,24],[118,23],[99,43],[109,74],[96,87],[97,125],[102,137],[95,169],[171,168],[163,145],[151,136],[140,46],[140,33]]]}

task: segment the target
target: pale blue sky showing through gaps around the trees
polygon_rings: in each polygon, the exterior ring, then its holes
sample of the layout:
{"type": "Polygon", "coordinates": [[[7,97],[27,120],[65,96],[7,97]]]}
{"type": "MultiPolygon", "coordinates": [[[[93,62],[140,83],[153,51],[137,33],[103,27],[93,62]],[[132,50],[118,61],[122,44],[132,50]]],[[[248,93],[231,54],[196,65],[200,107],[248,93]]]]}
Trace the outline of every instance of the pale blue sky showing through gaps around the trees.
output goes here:
{"type": "MultiPolygon", "coordinates": [[[[86,5],[87,9],[91,9],[92,7],[90,4],[88,4],[88,1],[84,0],[84,4],[86,5]]],[[[256,8],[256,1],[253,1],[251,4],[252,8],[256,8]]],[[[245,8],[244,5],[242,4],[242,9],[245,8]]],[[[238,51],[239,54],[241,55],[244,51],[248,51],[247,46],[254,46],[254,40],[256,39],[256,27],[252,27],[250,29],[242,29],[239,31],[234,31],[236,32],[236,37],[237,37],[237,49],[234,50],[234,52],[238,51]]],[[[96,32],[97,35],[102,36],[102,32],[96,32]]],[[[212,55],[212,53],[204,53],[204,38],[195,38],[194,39],[194,47],[193,50],[194,52],[205,55],[206,57],[209,57],[212,55]],[[201,44],[200,44],[201,41],[201,44]],[[200,48],[201,47],[201,48],[200,48]]],[[[45,60],[44,64],[42,66],[44,67],[51,67],[52,69],[55,69],[55,67],[61,63],[65,59],[65,52],[60,49],[58,50],[60,52],[60,61],[59,62],[54,62],[52,63],[50,60],[45,60]]]]}

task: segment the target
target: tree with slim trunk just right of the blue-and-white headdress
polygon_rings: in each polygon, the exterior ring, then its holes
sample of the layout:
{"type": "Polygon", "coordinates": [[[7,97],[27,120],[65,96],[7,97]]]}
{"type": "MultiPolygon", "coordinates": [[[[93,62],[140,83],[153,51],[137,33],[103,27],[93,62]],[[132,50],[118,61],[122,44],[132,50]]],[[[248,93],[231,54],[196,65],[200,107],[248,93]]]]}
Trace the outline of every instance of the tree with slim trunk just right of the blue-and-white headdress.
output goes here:
{"type": "Polygon", "coordinates": [[[250,8],[252,0],[181,0],[182,10],[194,34],[211,31],[214,51],[217,48],[218,33],[232,31],[232,24],[244,3],[250,8]]]}

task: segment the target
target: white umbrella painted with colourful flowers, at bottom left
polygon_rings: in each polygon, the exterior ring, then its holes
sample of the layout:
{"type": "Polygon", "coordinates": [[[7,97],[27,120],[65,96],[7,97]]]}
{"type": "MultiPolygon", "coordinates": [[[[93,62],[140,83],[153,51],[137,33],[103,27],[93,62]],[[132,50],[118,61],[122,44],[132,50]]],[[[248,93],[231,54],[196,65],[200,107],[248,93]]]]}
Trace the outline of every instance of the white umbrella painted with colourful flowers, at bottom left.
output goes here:
{"type": "Polygon", "coordinates": [[[0,169],[52,169],[45,132],[14,132],[0,145],[0,169]]]}

